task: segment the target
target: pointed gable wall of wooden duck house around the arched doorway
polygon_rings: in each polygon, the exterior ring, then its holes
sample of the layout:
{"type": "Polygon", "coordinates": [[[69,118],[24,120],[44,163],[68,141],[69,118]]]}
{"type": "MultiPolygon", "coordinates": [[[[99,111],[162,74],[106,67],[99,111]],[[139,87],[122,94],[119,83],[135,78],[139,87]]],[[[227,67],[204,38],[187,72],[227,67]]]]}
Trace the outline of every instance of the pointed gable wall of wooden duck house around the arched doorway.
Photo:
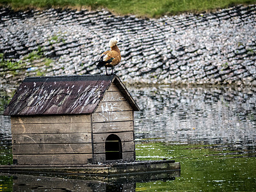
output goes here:
{"type": "Polygon", "coordinates": [[[122,141],[123,160],[135,160],[134,114],[129,102],[114,83],[92,114],[92,130],[94,163],[106,161],[105,141],[110,134],[116,134],[122,141]]]}

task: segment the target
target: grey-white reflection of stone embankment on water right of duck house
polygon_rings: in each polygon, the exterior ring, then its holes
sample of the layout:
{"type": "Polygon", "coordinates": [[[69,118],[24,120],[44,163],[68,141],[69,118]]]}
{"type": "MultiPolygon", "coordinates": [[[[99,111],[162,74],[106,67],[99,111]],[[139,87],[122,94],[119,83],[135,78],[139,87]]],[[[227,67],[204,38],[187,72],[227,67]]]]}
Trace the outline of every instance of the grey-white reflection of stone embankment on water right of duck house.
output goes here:
{"type": "Polygon", "coordinates": [[[256,90],[129,88],[141,108],[136,138],[177,143],[255,143],[256,90]]]}

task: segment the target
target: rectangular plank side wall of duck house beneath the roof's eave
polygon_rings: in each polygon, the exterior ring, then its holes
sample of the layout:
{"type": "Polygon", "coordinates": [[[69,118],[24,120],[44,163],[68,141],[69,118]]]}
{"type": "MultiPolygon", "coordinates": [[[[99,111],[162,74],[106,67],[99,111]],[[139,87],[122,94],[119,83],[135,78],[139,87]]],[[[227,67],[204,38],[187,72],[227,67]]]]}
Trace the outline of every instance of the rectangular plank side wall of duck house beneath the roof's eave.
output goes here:
{"type": "Polygon", "coordinates": [[[18,164],[86,164],[92,159],[91,115],[12,117],[18,164]]]}

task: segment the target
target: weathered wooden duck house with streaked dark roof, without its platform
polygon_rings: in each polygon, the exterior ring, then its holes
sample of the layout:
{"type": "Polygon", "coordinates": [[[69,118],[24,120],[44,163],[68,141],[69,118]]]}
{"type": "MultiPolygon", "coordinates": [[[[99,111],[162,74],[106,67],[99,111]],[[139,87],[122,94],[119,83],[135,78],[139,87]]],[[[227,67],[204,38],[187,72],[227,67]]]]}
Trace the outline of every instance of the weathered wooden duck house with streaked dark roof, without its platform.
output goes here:
{"type": "Polygon", "coordinates": [[[113,76],[27,77],[4,111],[17,164],[134,161],[137,104],[113,76]]]}

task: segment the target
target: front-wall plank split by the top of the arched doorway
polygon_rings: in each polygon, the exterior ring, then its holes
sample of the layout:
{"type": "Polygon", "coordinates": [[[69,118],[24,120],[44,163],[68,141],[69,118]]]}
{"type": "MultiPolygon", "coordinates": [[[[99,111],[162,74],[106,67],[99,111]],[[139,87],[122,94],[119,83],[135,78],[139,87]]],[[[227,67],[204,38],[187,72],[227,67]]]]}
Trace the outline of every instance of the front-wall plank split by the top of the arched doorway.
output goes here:
{"type": "MultiPolygon", "coordinates": [[[[133,141],[133,132],[116,132],[115,133],[122,142],[133,141]]],[[[105,143],[109,133],[95,133],[93,134],[93,143],[105,143]]]]}

